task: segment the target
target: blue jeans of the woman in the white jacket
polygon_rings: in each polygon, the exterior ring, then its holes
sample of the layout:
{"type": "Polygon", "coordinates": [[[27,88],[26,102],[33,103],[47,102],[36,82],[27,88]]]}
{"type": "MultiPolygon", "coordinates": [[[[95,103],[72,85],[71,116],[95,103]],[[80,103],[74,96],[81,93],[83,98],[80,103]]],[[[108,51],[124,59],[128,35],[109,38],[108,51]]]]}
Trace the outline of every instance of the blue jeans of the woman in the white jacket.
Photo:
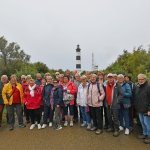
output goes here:
{"type": "Polygon", "coordinates": [[[85,106],[80,106],[80,111],[81,111],[83,121],[85,121],[88,124],[91,124],[91,118],[89,112],[85,111],[85,106]]]}

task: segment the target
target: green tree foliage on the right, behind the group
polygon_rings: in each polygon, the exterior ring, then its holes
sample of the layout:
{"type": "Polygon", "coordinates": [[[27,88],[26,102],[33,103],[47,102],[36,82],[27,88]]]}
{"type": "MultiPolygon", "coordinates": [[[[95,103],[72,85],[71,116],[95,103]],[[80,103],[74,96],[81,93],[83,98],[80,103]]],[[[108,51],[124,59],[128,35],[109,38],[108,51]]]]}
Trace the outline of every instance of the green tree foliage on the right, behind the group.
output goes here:
{"type": "Polygon", "coordinates": [[[134,48],[133,52],[123,51],[117,60],[108,66],[107,73],[122,73],[131,75],[135,81],[139,73],[150,75],[150,50],[145,50],[142,46],[134,48]]]}

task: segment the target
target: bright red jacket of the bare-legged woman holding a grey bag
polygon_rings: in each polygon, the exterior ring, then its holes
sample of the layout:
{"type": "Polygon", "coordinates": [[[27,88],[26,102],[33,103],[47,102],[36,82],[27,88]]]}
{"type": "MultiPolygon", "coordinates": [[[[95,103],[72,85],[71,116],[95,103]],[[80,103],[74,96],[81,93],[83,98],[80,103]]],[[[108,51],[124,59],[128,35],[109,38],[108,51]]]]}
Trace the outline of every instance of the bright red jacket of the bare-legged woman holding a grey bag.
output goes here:
{"type": "MultiPolygon", "coordinates": [[[[62,86],[64,87],[64,84],[62,86]]],[[[71,82],[71,81],[68,82],[68,84],[67,84],[67,90],[69,90],[70,94],[72,94],[74,97],[76,96],[77,87],[76,87],[76,85],[73,82],[71,82]]],[[[74,99],[72,99],[70,101],[70,105],[74,105],[74,99]]]]}

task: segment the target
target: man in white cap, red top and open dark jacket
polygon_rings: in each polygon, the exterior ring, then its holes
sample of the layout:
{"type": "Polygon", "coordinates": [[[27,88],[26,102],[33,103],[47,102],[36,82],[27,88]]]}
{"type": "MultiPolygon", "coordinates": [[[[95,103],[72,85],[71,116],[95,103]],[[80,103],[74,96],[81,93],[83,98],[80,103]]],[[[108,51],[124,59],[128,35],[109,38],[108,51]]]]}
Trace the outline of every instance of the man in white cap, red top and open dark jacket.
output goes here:
{"type": "Polygon", "coordinates": [[[120,101],[123,98],[123,91],[121,86],[114,81],[114,75],[109,73],[107,75],[106,83],[106,107],[109,127],[108,132],[113,131],[113,136],[119,136],[119,109],[120,101]]]}

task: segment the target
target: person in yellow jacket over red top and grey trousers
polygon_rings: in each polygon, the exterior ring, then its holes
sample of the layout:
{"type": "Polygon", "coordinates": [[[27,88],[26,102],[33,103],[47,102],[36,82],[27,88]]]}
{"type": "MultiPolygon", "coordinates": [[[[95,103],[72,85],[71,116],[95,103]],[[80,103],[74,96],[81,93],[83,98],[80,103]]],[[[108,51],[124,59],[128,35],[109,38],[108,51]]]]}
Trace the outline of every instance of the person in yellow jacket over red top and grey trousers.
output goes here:
{"type": "Polygon", "coordinates": [[[9,122],[11,125],[10,131],[14,130],[15,108],[18,117],[19,127],[24,128],[25,125],[23,124],[23,113],[21,106],[23,104],[23,89],[21,84],[17,82],[15,75],[11,75],[10,82],[4,85],[2,97],[8,111],[9,122]]]}

